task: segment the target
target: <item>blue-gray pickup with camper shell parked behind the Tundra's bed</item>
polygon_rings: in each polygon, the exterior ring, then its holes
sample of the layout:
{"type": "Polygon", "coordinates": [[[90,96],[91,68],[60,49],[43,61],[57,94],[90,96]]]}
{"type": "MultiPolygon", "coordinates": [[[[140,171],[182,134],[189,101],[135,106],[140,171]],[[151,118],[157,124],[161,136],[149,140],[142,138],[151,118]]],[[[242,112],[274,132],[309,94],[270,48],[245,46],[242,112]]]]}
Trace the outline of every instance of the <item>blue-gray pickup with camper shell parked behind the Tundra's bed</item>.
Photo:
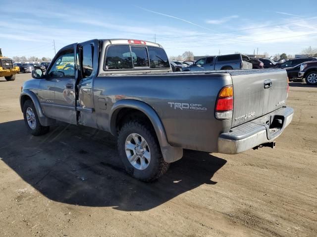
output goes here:
{"type": "Polygon", "coordinates": [[[228,54],[221,56],[208,56],[197,60],[193,65],[183,71],[210,71],[252,69],[252,63],[248,56],[243,54],[228,54]]]}

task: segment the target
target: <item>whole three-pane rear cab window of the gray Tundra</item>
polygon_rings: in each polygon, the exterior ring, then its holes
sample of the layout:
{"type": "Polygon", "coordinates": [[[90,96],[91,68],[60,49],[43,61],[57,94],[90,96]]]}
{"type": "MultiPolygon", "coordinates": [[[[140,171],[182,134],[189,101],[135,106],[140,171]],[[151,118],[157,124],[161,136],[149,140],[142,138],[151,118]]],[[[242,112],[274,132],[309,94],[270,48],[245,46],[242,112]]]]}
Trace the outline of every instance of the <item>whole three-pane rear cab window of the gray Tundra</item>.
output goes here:
{"type": "Polygon", "coordinates": [[[109,45],[105,70],[170,68],[164,49],[154,46],[109,45]]]}

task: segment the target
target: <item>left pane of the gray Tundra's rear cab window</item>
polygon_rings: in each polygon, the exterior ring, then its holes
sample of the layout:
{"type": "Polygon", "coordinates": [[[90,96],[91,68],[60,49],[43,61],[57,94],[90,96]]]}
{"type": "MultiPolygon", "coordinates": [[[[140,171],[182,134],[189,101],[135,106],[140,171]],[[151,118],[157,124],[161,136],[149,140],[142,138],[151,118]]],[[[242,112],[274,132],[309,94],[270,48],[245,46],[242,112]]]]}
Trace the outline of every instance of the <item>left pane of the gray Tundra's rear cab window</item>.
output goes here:
{"type": "Polygon", "coordinates": [[[131,69],[132,57],[128,45],[111,45],[106,52],[105,69],[131,69]]]}

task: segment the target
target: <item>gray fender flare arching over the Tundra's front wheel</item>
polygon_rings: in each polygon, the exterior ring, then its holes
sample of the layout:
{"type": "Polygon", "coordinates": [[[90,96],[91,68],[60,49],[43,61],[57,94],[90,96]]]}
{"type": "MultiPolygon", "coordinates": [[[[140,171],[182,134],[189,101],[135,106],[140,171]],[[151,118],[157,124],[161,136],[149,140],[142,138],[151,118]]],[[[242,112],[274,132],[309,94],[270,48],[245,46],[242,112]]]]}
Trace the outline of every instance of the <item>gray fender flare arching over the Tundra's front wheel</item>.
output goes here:
{"type": "Polygon", "coordinates": [[[42,126],[49,126],[55,122],[54,119],[48,118],[44,115],[41,104],[38,100],[38,97],[31,90],[23,90],[20,94],[20,107],[21,107],[22,113],[23,113],[24,102],[28,99],[32,100],[42,126]]]}

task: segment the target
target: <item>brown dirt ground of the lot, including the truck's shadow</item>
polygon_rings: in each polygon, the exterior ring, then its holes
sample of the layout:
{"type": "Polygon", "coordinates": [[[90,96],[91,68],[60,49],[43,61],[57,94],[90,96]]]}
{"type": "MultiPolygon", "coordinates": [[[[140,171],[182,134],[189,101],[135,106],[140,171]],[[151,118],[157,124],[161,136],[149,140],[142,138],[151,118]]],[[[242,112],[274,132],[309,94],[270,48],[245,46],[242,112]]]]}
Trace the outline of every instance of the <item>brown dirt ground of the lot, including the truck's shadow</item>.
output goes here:
{"type": "Polygon", "coordinates": [[[0,236],[317,236],[317,87],[290,83],[292,123],[276,148],[185,151],[159,181],[123,171],[108,133],[73,125],[27,133],[30,74],[0,78],[0,236]]]}

